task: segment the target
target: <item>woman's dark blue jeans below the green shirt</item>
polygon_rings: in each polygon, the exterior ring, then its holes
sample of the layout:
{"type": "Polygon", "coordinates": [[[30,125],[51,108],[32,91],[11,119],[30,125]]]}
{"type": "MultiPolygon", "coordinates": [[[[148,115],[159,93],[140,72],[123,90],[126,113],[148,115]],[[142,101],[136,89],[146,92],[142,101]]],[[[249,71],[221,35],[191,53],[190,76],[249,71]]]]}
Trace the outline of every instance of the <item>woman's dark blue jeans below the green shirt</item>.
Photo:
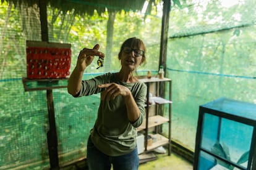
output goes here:
{"type": "Polygon", "coordinates": [[[111,164],[115,170],[137,170],[139,168],[139,156],[137,147],[130,153],[121,156],[108,156],[100,152],[91,140],[87,144],[87,164],[90,170],[109,170],[111,164]]]}

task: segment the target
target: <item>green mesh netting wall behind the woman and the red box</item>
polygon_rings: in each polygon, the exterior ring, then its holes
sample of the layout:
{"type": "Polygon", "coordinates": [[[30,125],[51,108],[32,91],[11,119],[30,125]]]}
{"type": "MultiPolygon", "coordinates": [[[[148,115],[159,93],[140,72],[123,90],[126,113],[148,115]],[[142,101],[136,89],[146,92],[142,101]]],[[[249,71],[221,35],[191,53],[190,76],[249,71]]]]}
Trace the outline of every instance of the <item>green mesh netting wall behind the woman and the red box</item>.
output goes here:
{"type": "MultiPolygon", "coordinates": [[[[14,7],[4,2],[0,13],[0,169],[49,168],[46,91],[25,92],[22,83],[22,78],[27,77],[26,40],[41,41],[39,9],[26,4],[14,7]]],[[[97,70],[95,60],[87,68],[85,79],[107,71],[118,71],[121,68],[119,48],[132,36],[142,38],[148,47],[148,62],[140,67],[138,73],[147,74],[145,68],[151,69],[152,73],[153,69],[158,69],[161,17],[148,15],[146,23],[145,15],[140,12],[121,11],[115,16],[113,50],[106,55],[104,67],[97,70]],[[129,26],[127,22],[130,22],[129,26]],[[150,23],[156,27],[150,29],[150,23]]],[[[92,48],[98,43],[100,51],[106,54],[107,22],[108,12],[79,15],[71,10],[64,14],[48,6],[49,42],[71,44],[70,71],[74,69],[77,55],[83,47],[92,48]]],[[[30,87],[42,86],[36,82],[28,84],[30,87]]],[[[66,84],[64,80],[54,86],[66,84]]],[[[85,158],[87,139],[95,123],[100,98],[92,95],[75,99],[66,88],[62,88],[53,89],[53,100],[59,164],[62,166],[85,158]]]]}

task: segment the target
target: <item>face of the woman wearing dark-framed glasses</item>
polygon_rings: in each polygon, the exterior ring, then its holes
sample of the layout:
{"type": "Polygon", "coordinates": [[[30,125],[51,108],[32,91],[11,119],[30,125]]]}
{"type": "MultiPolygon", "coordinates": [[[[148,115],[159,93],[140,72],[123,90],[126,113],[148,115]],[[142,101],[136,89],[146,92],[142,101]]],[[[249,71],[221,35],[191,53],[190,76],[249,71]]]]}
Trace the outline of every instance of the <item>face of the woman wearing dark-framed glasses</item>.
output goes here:
{"type": "Polygon", "coordinates": [[[121,53],[122,68],[128,69],[129,71],[136,70],[143,63],[143,54],[144,51],[140,47],[124,47],[121,53]]]}

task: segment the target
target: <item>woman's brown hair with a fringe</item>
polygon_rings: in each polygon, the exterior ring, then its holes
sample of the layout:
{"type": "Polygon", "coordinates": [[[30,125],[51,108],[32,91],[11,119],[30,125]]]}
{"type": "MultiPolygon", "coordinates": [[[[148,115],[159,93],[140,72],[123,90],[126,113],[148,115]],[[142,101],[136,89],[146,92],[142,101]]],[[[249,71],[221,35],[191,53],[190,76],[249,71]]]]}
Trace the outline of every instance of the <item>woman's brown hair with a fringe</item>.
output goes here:
{"type": "Polygon", "coordinates": [[[124,41],[124,43],[122,43],[121,49],[119,51],[119,54],[118,54],[118,59],[119,60],[121,59],[121,54],[122,54],[122,50],[124,49],[124,47],[138,47],[138,48],[140,47],[140,48],[142,48],[141,49],[143,51],[142,63],[145,62],[146,46],[145,46],[144,42],[141,39],[136,38],[136,37],[126,39],[126,41],[124,41]]]}

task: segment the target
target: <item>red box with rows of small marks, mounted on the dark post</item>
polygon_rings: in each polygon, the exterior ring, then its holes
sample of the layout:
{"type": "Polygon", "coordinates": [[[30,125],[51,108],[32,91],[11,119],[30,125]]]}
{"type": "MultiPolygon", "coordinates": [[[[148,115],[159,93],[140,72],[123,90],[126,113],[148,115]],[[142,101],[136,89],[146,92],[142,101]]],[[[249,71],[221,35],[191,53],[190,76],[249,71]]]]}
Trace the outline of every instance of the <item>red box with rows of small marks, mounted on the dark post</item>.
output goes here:
{"type": "Polygon", "coordinates": [[[66,78],[71,50],[59,47],[27,47],[27,78],[66,78]]]}

